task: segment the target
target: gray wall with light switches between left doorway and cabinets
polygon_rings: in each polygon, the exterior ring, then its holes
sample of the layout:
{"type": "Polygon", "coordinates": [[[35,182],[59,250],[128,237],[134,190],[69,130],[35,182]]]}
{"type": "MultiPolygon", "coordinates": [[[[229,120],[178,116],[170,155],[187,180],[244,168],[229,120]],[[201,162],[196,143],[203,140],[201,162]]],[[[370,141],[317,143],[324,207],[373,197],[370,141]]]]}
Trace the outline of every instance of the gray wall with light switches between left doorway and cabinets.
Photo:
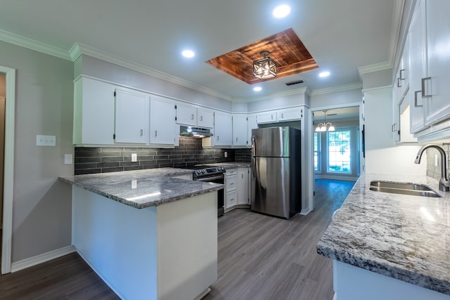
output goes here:
{"type": "Polygon", "coordinates": [[[73,63],[0,41],[0,65],[16,70],[12,261],[71,244],[73,63]],[[56,136],[56,147],[36,136],[56,136]]]}

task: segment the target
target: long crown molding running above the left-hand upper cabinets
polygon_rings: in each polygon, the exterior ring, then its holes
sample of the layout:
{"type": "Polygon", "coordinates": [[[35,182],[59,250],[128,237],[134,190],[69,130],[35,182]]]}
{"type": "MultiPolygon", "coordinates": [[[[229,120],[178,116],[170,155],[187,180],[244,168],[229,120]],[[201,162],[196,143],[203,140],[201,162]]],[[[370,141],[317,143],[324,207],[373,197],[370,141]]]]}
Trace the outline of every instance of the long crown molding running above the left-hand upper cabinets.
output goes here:
{"type": "Polygon", "coordinates": [[[230,96],[225,95],[224,93],[218,93],[217,91],[214,91],[212,89],[207,89],[205,86],[200,86],[198,84],[193,84],[191,81],[187,81],[178,77],[174,77],[170,74],[167,74],[165,72],[160,72],[158,70],[152,69],[151,67],[145,67],[143,65],[140,65],[138,63],[134,63],[131,60],[126,60],[124,58],[120,58],[118,56],[113,56],[110,53],[107,53],[105,51],[98,50],[96,48],[93,48],[91,46],[87,46],[84,44],[75,43],[72,48],[70,48],[70,57],[72,58],[72,61],[75,61],[79,56],[86,55],[91,56],[93,58],[98,58],[100,60],[105,60],[108,63],[113,63],[115,65],[120,65],[121,67],[126,67],[128,69],[134,70],[136,72],[141,72],[143,74],[147,74],[165,81],[172,82],[174,84],[178,84],[180,86],[184,86],[188,89],[193,89],[195,91],[200,91],[202,93],[206,93],[210,96],[214,96],[217,98],[221,98],[224,100],[233,101],[233,98],[230,96]]]}

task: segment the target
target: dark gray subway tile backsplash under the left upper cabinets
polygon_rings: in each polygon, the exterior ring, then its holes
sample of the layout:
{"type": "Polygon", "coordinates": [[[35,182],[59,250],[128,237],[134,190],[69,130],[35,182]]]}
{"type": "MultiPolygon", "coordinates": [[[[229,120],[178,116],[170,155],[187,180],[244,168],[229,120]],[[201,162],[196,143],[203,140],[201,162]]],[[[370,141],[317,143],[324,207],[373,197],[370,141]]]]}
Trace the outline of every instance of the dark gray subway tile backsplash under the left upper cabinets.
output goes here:
{"type": "Polygon", "coordinates": [[[173,149],[75,148],[75,175],[161,167],[187,168],[217,162],[250,162],[250,149],[203,149],[200,138],[188,137],[180,137],[180,145],[173,149]],[[131,162],[132,153],[137,154],[137,162],[131,162]]]}

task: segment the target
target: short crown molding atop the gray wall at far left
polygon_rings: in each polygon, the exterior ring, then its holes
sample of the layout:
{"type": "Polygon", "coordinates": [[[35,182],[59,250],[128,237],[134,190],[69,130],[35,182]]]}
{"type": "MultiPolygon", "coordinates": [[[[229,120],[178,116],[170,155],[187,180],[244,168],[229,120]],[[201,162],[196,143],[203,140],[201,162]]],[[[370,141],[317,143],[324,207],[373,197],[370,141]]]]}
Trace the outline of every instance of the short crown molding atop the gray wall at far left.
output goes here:
{"type": "Polygon", "coordinates": [[[29,39],[27,37],[21,37],[17,34],[11,32],[6,32],[0,30],[0,40],[6,41],[9,44],[21,46],[41,53],[49,54],[50,56],[56,56],[58,58],[63,58],[64,60],[72,60],[67,50],[57,48],[42,43],[41,41],[36,41],[34,39],[29,39]]]}

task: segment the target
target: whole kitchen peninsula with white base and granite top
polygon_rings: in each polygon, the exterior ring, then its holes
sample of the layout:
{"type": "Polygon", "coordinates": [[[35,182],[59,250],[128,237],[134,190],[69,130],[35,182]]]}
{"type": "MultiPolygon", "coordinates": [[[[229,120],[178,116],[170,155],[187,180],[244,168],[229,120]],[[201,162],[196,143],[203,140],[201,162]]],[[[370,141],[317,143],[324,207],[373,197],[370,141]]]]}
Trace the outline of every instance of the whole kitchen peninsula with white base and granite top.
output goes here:
{"type": "Polygon", "coordinates": [[[65,176],[72,244],[122,299],[195,299],[217,279],[217,190],[160,168],[65,176]]]}

